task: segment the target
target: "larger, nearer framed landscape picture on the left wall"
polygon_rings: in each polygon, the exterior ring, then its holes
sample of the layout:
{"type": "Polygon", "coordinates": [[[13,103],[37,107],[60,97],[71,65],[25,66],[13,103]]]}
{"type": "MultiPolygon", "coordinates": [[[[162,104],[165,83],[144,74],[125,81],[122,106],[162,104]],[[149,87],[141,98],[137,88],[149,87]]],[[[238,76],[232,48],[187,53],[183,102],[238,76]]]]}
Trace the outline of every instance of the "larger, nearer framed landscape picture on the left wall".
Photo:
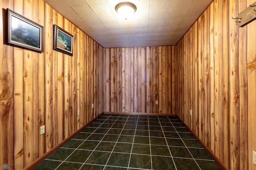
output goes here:
{"type": "Polygon", "coordinates": [[[7,13],[8,43],[43,52],[44,27],[10,9],[7,13]]]}

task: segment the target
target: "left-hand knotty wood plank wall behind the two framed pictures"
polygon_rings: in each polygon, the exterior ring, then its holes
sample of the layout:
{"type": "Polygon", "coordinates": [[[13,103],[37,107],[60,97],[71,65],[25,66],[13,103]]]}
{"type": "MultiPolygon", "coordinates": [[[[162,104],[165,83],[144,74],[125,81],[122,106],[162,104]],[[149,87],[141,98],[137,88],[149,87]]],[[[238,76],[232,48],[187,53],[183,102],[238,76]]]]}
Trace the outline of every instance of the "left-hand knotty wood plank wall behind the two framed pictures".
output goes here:
{"type": "Polygon", "coordinates": [[[0,7],[0,165],[21,169],[102,113],[103,47],[43,0],[0,7]],[[44,52],[6,43],[6,8],[44,26],[44,52]],[[74,36],[72,57],[52,49],[54,24],[74,36]]]}

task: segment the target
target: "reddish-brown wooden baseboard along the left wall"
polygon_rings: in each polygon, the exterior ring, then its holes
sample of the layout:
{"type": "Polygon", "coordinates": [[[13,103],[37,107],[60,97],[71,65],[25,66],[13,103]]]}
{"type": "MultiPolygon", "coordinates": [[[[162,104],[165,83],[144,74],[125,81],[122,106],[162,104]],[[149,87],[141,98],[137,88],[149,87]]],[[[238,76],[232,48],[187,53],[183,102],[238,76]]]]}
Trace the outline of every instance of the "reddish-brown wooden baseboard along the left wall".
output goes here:
{"type": "MultiPolygon", "coordinates": [[[[102,115],[103,112],[100,114],[102,115]]],[[[90,125],[90,123],[92,123],[93,121],[95,121],[100,115],[98,115],[97,117],[95,117],[94,119],[92,119],[92,121],[88,122],[86,125],[84,125],[83,127],[81,127],[80,129],[76,130],[76,132],[74,132],[72,135],[68,136],[68,138],[64,139],[62,142],[60,142],[59,144],[57,144],[56,146],[54,146],[51,150],[49,150],[48,152],[46,152],[45,154],[43,154],[42,156],[40,156],[39,158],[37,158],[34,162],[32,162],[30,165],[28,165],[26,168],[24,168],[24,170],[32,170],[33,168],[35,168],[38,164],[40,164],[43,160],[45,160],[46,158],[48,158],[48,156],[50,156],[51,154],[53,154],[56,150],[58,150],[61,146],[63,146],[66,142],[68,142],[69,140],[71,140],[72,138],[74,138],[74,136],[76,136],[78,133],[80,133],[84,128],[86,128],[88,125],[90,125]]]]}

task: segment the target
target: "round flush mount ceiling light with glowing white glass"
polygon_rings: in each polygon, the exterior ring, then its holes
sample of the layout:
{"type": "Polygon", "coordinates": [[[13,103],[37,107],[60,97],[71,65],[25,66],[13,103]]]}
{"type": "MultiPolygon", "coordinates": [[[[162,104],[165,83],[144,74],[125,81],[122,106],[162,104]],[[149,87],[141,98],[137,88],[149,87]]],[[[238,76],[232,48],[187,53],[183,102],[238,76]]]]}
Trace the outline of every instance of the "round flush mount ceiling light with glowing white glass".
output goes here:
{"type": "Polygon", "coordinates": [[[137,8],[130,2],[121,2],[116,5],[116,12],[124,17],[125,20],[136,12],[137,8]]]}

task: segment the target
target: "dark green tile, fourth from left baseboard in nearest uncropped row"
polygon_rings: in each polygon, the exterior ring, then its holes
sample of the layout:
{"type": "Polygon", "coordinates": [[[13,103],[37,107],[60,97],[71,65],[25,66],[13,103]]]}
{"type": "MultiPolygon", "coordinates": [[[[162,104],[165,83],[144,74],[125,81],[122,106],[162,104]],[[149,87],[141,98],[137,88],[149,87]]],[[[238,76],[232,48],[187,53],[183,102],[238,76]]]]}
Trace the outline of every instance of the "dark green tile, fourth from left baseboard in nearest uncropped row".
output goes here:
{"type": "Polygon", "coordinates": [[[128,167],[130,154],[112,153],[107,165],[108,166],[122,166],[128,167]]]}

